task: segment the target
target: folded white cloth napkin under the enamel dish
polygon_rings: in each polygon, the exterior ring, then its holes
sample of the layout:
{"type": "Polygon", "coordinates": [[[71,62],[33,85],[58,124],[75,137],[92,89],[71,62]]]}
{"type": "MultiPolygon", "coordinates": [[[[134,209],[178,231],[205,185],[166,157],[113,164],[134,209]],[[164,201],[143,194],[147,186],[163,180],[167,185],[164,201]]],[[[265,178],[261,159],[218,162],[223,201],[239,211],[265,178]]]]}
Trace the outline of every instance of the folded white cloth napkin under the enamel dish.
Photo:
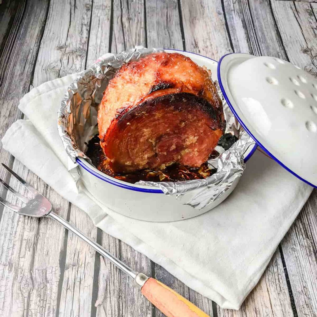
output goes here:
{"type": "MultiPolygon", "coordinates": [[[[76,74],[42,84],[20,101],[3,147],[94,224],[166,268],[223,308],[239,309],[256,285],[312,188],[256,151],[235,191],[195,218],[151,223],[124,217],[77,192],[57,132],[57,109],[76,74]],[[35,155],[36,153],[36,155],[35,155]]],[[[149,210],[151,212],[151,210],[149,210]]]]}

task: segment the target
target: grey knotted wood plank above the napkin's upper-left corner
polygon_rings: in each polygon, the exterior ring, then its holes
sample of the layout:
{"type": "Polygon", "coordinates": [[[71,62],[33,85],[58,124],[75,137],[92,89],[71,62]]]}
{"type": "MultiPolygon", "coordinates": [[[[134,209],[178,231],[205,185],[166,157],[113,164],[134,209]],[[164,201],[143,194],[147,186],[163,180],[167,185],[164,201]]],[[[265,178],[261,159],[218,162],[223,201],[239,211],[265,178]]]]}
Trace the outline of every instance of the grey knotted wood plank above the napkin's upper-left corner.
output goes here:
{"type": "Polygon", "coordinates": [[[91,0],[50,1],[34,87],[85,69],[90,16],[91,0]]]}

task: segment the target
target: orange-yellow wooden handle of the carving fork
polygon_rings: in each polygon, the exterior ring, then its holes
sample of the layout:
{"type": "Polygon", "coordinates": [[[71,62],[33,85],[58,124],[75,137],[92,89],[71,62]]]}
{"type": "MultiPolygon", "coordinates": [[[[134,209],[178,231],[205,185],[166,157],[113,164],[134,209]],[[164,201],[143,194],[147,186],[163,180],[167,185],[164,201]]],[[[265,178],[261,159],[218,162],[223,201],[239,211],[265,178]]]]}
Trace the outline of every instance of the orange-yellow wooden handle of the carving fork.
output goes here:
{"type": "Polygon", "coordinates": [[[167,317],[209,317],[171,288],[150,277],[141,293],[167,317]]]}

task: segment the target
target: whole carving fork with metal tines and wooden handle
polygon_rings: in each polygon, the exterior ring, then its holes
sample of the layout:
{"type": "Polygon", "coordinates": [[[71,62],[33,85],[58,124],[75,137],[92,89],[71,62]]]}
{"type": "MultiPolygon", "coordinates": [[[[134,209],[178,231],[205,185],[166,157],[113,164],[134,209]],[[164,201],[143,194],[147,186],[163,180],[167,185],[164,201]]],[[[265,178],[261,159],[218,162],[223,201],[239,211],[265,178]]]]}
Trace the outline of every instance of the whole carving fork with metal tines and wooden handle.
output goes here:
{"type": "Polygon", "coordinates": [[[141,293],[159,310],[161,310],[168,317],[209,317],[202,310],[187,301],[184,297],[167,287],[163,283],[148,277],[143,273],[138,273],[132,268],[126,266],[125,263],[110,254],[106,249],[102,248],[98,243],[90,240],[80,230],[72,226],[68,221],[61,218],[52,211],[52,204],[41,195],[34,187],[24,181],[19,175],[12,171],[8,166],[2,165],[33,195],[33,198],[29,199],[10,185],[6,184],[1,178],[0,182],[9,191],[12,192],[19,200],[24,204],[23,207],[16,206],[9,203],[2,197],[0,197],[0,203],[10,210],[25,216],[31,217],[50,217],[61,223],[66,229],[72,231],[75,235],[86,241],[91,247],[93,247],[102,256],[109,259],[114,265],[124,271],[133,279],[133,284],[138,288],[141,293]]]}

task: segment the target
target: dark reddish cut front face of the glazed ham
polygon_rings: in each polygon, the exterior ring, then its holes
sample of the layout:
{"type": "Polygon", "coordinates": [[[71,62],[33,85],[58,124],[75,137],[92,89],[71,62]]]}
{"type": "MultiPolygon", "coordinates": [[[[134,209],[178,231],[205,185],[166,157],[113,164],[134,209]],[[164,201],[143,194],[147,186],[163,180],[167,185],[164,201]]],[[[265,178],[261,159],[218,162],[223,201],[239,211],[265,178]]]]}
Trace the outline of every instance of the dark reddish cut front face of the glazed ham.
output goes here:
{"type": "Polygon", "coordinates": [[[114,120],[103,142],[116,172],[164,169],[174,162],[198,167],[222,135],[210,103],[189,93],[146,100],[114,120]]]}

